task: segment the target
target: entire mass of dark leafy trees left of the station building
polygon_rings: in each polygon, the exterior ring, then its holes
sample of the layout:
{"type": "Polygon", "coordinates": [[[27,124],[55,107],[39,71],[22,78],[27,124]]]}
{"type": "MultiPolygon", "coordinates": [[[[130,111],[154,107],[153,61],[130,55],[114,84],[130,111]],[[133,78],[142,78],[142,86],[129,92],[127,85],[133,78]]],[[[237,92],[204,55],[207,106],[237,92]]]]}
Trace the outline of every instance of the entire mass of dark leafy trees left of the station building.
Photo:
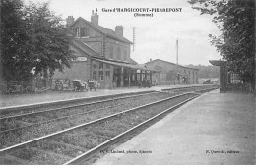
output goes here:
{"type": "Polygon", "coordinates": [[[37,74],[47,78],[48,72],[70,67],[71,39],[48,3],[25,6],[20,0],[1,0],[1,11],[5,80],[29,80],[37,74]]]}

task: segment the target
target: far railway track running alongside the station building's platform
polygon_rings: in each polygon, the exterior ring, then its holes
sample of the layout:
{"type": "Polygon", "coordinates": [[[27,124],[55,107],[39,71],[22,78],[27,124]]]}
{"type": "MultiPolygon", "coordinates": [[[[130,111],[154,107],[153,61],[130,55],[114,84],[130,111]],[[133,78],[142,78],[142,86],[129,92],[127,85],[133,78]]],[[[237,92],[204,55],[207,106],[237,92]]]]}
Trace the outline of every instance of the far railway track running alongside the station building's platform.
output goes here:
{"type": "Polygon", "coordinates": [[[46,109],[46,110],[27,112],[27,113],[18,114],[18,115],[5,116],[5,117],[0,118],[0,124],[1,124],[0,133],[5,134],[5,133],[11,132],[11,131],[17,131],[20,129],[26,129],[28,127],[37,126],[37,125],[44,124],[44,123],[49,123],[49,122],[54,122],[54,121],[58,121],[61,119],[66,119],[68,117],[74,117],[76,115],[92,113],[96,110],[101,110],[101,109],[105,109],[105,108],[111,108],[114,106],[123,105],[123,103],[119,103],[116,105],[115,104],[116,101],[147,96],[149,94],[155,94],[155,93],[157,93],[157,92],[150,92],[150,93],[147,92],[147,93],[140,93],[140,94],[134,94],[134,95],[128,95],[128,96],[125,95],[125,96],[108,98],[108,99],[103,99],[103,100],[94,101],[94,102],[79,103],[79,104],[74,104],[74,105],[69,105],[69,106],[64,106],[64,107],[51,108],[51,109],[46,109]],[[110,103],[113,105],[105,106],[103,103],[105,103],[105,104],[110,103]],[[74,108],[81,108],[81,107],[86,107],[86,106],[91,109],[84,108],[83,110],[85,110],[86,112],[70,111],[71,109],[74,109],[74,108]],[[94,106],[93,109],[92,109],[92,106],[94,106]],[[23,119],[25,119],[25,121],[23,119]],[[12,126],[13,127],[12,128],[8,127],[8,124],[9,124],[9,126],[11,125],[10,127],[12,127],[12,126]]]}

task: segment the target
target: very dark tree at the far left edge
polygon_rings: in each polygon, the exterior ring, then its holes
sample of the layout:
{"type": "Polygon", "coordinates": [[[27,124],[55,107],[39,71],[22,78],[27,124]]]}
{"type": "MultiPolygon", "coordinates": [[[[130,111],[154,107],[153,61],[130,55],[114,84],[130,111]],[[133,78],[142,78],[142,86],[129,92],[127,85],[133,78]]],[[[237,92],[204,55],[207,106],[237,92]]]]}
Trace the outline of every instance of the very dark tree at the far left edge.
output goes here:
{"type": "Polygon", "coordinates": [[[23,3],[20,0],[1,0],[1,64],[4,80],[20,80],[29,74],[20,74],[26,67],[26,24],[23,3]]]}

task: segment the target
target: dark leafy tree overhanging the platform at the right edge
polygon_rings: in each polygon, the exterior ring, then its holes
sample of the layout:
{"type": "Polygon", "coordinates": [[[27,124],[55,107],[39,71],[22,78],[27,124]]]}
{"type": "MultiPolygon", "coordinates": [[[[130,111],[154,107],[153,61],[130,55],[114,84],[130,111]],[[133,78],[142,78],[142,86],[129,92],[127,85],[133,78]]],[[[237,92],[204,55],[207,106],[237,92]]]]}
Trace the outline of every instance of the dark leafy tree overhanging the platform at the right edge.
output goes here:
{"type": "Polygon", "coordinates": [[[221,36],[209,35],[211,43],[227,61],[230,71],[255,84],[255,2],[254,0],[190,0],[201,14],[214,15],[221,36]]]}

